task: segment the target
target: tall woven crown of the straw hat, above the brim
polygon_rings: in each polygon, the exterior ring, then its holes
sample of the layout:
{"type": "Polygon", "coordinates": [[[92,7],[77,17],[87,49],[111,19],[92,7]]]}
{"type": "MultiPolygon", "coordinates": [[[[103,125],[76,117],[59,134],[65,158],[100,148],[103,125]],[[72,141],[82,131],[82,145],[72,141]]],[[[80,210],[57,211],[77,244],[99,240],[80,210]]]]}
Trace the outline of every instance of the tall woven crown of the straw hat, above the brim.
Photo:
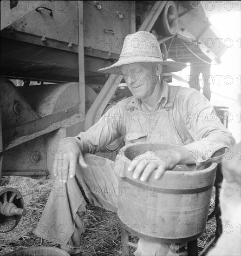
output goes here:
{"type": "Polygon", "coordinates": [[[138,31],[125,37],[120,59],[130,56],[155,57],[163,61],[156,36],[146,31],[138,31]]]}

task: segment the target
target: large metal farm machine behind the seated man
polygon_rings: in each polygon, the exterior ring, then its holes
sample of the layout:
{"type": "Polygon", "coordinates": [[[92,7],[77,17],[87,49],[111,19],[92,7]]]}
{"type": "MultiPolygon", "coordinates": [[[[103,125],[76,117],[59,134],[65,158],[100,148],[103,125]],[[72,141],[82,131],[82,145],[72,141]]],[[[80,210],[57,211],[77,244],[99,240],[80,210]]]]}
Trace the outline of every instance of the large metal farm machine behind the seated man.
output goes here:
{"type": "MultiPolygon", "coordinates": [[[[59,141],[90,128],[130,96],[116,75],[97,72],[118,60],[127,34],[149,31],[164,60],[189,62],[193,75],[210,74],[211,61],[219,63],[225,47],[205,44],[217,36],[200,2],[0,2],[0,227],[11,221],[0,232],[26,214],[20,191],[3,186],[6,177],[52,177],[59,141]]],[[[163,79],[170,82],[172,75],[163,79]]],[[[122,146],[118,139],[100,154],[113,160],[122,146]]]]}

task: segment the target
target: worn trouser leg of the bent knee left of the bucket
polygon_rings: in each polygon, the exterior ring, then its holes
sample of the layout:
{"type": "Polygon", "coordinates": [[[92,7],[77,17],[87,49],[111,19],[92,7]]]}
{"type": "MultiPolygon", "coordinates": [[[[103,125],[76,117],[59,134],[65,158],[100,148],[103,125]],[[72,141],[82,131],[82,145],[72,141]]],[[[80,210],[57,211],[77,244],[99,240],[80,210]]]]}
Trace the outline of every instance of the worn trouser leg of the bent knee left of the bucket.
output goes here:
{"type": "Polygon", "coordinates": [[[75,177],[67,183],[56,178],[35,230],[37,236],[71,249],[80,249],[88,202],[117,212],[117,197],[109,193],[118,186],[114,162],[91,154],[84,158],[88,168],[78,165],[75,177]]]}

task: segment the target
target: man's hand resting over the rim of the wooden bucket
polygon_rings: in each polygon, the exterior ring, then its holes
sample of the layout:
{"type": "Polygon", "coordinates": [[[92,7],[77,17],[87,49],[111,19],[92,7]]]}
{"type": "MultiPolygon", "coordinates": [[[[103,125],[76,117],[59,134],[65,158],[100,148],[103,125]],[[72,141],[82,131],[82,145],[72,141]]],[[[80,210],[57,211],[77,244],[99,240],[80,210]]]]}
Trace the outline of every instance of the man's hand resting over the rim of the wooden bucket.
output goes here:
{"type": "Polygon", "coordinates": [[[155,179],[161,178],[166,170],[173,169],[177,164],[195,163],[192,158],[187,159],[187,150],[182,147],[156,151],[146,151],[142,155],[135,157],[128,168],[128,171],[134,171],[133,179],[140,177],[140,180],[146,181],[151,173],[156,170],[155,179]]]}

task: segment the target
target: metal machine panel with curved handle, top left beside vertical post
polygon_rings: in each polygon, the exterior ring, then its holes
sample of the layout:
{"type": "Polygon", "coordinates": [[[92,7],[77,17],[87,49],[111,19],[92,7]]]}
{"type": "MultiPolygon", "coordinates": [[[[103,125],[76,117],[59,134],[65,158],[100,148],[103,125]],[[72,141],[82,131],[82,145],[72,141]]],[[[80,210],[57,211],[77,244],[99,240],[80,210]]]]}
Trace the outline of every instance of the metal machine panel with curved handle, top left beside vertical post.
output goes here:
{"type": "Polygon", "coordinates": [[[77,1],[47,1],[27,13],[9,29],[78,45],[77,1]]]}

